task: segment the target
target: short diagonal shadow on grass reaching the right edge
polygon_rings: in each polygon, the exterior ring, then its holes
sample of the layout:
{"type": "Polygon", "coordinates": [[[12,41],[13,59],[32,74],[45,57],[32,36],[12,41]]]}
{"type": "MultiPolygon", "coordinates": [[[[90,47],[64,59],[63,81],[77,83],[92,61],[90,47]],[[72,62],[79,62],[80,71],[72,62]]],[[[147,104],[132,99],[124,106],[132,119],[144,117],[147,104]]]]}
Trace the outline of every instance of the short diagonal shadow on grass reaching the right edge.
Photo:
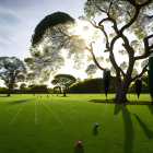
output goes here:
{"type": "Polygon", "coordinates": [[[133,115],[136,117],[136,119],[138,120],[139,125],[141,126],[141,128],[143,129],[145,136],[149,138],[149,139],[152,139],[153,138],[153,131],[151,131],[148,126],[134,114],[133,115]]]}

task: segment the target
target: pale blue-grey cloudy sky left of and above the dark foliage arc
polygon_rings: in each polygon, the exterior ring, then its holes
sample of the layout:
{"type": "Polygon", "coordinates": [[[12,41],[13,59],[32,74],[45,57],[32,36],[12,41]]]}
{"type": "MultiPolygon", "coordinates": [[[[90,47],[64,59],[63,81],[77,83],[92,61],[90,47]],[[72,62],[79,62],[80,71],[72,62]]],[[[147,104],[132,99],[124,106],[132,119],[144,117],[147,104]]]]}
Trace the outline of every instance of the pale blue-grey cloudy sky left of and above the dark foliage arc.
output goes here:
{"type": "Polygon", "coordinates": [[[63,11],[76,19],[83,12],[84,2],[0,0],[0,56],[26,58],[30,56],[31,37],[40,20],[56,11],[63,11]]]}

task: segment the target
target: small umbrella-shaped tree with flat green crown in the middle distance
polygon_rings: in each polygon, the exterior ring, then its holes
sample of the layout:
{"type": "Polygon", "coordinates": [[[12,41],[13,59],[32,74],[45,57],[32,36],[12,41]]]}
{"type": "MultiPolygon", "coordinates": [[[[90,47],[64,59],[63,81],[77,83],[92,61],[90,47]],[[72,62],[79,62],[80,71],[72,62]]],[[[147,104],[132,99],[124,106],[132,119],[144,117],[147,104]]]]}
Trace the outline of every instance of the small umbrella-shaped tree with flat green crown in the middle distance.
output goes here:
{"type": "Polygon", "coordinates": [[[68,87],[76,82],[76,79],[70,74],[57,74],[54,78],[54,82],[55,80],[56,83],[63,90],[63,96],[66,96],[68,87]]]}

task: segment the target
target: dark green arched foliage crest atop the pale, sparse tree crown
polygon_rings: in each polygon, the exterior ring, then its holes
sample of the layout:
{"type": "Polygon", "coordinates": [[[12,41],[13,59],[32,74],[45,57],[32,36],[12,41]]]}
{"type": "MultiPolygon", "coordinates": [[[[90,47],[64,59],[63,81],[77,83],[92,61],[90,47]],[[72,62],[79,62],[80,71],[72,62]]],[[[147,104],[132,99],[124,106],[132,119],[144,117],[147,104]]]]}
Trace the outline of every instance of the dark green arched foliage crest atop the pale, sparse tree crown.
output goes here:
{"type": "Polygon", "coordinates": [[[47,15],[36,26],[34,35],[32,37],[32,44],[37,44],[42,39],[45,31],[48,27],[56,26],[58,24],[64,24],[67,22],[74,22],[74,19],[72,19],[69,14],[63,12],[56,12],[50,15],[47,15]]]}

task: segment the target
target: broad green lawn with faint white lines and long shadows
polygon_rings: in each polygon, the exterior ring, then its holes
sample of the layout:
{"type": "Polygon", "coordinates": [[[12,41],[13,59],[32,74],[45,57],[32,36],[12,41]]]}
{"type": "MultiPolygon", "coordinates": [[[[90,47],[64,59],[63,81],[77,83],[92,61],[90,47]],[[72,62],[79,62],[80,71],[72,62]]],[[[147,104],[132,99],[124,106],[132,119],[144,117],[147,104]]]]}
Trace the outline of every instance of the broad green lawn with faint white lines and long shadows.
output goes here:
{"type": "Polygon", "coordinates": [[[105,99],[101,94],[40,96],[0,95],[0,153],[153,153],[152,105],[89,102],[105,99]]]}

